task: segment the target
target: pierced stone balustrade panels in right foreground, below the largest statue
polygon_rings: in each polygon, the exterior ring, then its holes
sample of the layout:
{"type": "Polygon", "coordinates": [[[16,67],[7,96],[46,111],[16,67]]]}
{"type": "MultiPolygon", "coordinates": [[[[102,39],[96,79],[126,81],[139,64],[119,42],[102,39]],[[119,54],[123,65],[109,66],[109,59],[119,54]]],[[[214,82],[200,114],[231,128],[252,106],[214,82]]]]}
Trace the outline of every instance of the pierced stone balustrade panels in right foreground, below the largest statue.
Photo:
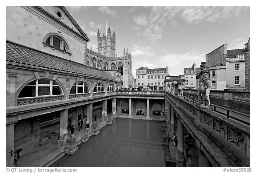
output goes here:
{"type": "MultiPolygon", "coordinates": [[[[196,107],[196,104],[173,94],[167,93],[166,98],[175,104],[189,119],[192,121],[200,121],[201,127],[212,131],[218,138],[226,141],[227,145],[234,145],[235,148],[239,149],[245,156],[250,157],[250,128],[248,126],[219,116],[214,113],[213,110],[202,110],[196,107]]],[[[219,142],[219,145],[221,145],[220,143],[221,142],[219,142]]]]}

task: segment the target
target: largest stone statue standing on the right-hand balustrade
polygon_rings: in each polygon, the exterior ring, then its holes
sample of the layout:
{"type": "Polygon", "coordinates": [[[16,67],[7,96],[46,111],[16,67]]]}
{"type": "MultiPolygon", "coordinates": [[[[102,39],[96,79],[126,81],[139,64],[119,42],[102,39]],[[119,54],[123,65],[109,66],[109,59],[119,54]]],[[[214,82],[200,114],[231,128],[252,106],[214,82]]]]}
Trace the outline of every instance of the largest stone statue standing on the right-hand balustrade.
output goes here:
{"type": "Polygon", "coordinates": [[[210,73],[206,70],[205,62],[200,65],[201,70],[196,72],[196,79],[199,79],[198,100],[199,107],[210,106],[210,73]]]}

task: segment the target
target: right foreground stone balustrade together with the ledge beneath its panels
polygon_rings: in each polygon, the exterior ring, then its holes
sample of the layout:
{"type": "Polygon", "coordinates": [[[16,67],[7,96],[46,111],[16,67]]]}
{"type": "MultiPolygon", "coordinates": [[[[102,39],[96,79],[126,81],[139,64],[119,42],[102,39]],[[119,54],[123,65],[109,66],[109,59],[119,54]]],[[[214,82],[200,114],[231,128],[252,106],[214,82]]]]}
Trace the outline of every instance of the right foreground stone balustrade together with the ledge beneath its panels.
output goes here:
{"type": "Polygon", "coordinates": [[[167,100],[180,110],[183,116],[188,117],[197,128],[225,153],[233,157],[235,154],[241,162],[248,165],[250,160],[250,127],[216,114],[213,110],[203,110],[196,104],[183,98],[167,93],[167,100]]]}

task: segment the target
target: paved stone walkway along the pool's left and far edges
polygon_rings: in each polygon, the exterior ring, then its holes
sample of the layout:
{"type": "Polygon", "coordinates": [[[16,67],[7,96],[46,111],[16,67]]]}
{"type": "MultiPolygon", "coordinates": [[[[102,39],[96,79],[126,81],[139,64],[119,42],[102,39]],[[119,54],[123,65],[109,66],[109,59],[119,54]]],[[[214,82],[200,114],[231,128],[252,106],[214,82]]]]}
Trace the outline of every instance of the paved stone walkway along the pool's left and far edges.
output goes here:
{"type": "MultiPolygon", "coordinates": [[[[145,119],[146,115],[135,115],[132,114],[132,117],[129,117],[128,114],[119,114],[108,116],[111,118],[132,118],[132,119],[145,119]]],[[[160,116],[150,116],[150,120],[163,121],[160,116]]],[[[99,120],[98,120],[99,122],[99,120]]],[[[99,129],[107,125],[107,122],[100,121],[99,129]]],[[[92,127],[92,126],[91,126],[92,127]]],[[[75,129],[75,138],[76,143],[79,145],[81,143],[80,137],[86,133],[86,128],[83,127],[79,132],[78,129],[75,129]]],[[[90,132],[89,137],[92,136],[90,132]]],[[[58,146],[58,134],[48,135],[48,142],[41,146],[28,145],[20,152],[20,159],[17,164],[18,167],[48,167],[52,165],[55,161],[64,156],[64,151],[57,149],[58,146]]]]}

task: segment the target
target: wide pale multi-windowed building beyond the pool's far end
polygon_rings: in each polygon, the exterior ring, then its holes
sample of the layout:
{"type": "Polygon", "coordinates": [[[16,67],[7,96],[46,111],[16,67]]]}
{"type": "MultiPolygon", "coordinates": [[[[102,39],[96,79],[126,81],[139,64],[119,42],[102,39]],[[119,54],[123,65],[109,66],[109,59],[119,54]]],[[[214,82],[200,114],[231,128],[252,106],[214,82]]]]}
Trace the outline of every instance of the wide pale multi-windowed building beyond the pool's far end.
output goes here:
{"type": "Polygon", "coordinates": [[[164,78],[166,75],[169,75],[168,67],[153,69],[140,67],[136,70],[136,86],[139,88],[149,86],[150,89],[153,87],[164,89],[164,78]]]}

